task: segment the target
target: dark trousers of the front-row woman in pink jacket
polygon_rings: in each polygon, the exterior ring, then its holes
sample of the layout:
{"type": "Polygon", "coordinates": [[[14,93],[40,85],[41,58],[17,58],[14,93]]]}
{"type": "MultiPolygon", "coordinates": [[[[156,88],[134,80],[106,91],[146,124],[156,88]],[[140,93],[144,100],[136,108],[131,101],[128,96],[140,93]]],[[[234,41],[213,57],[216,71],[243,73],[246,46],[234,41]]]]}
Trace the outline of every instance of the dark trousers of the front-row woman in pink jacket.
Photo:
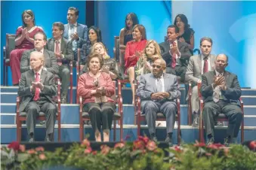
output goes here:
{"type": "Polygon", "coordinates": [[[100,131],[101,126],[103,130],[111,129],[113,114],[116,111],[116,105],[114,103],[85,103],[83,110],[89,113],[94,132],[96,130],[100,131]]]}

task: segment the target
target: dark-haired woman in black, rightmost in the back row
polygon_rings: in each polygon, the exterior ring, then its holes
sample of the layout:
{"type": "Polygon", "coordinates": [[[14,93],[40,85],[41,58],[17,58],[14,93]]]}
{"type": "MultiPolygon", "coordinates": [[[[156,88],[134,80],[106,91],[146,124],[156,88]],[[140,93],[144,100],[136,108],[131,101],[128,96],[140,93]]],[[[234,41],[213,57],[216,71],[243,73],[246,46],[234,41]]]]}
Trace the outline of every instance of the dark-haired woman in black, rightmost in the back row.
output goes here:
{"type": "Polygon", "coordinates": [[[193,55],[194,49],[194,30],[190,28],[187,17],[184,14],[177,14],[174,20],[174,25],[179,28],[177,39],[180,42],[186,42],[190,47],[190,53],[193,55]]]}

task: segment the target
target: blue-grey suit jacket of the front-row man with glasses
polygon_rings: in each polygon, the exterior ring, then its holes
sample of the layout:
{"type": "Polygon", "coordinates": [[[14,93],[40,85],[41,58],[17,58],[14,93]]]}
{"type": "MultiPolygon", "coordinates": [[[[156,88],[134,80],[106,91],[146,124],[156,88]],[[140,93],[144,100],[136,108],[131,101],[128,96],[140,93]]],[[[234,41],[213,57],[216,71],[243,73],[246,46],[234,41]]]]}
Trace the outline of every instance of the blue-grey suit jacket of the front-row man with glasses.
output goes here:
{"type": "MultiPolygon", "coordinates": [[[[166,101],[173,101],[180,97],[180,90],[177,84],[177,76],[173,74],[164,73],[165,92],[170,93],[169,99],[166,101]]],[[[137,87],[137,96],[141,99],[141,107],[146,102],[151,101],[151,94],[156,93],[156,78],[152,73],[140,75],[139,85],[137,87]]]]}

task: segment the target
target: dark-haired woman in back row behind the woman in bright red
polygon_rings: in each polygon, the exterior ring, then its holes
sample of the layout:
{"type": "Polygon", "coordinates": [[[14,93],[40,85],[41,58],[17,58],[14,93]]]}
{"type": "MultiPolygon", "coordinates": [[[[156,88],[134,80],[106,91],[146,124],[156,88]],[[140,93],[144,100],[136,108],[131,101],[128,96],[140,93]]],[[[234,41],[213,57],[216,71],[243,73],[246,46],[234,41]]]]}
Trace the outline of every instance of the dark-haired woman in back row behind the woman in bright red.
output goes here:
{"type": "Polygon", "coordinates": [[[134,13],[129,13],[125,17],[125,27],[121,29],[119,39],[120,39],[120,49],[125,50],[125,45],[128,41],[132,40],[132,28],[139,23],[137,15],[134,13]]]}

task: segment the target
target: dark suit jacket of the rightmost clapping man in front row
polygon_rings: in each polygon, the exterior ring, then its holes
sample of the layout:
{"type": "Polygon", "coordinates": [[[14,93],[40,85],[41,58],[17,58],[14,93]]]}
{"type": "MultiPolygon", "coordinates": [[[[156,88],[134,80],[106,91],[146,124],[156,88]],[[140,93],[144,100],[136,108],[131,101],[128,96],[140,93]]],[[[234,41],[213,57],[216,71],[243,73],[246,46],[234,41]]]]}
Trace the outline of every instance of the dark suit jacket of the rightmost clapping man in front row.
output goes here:
{"type": "MultiPolygon", "coordinates": [[[[215,71],[208,71],[207,73],[202,74],[201,93],[205,102],[213,101],[212,95],[214,90],[211,84],[214,82],[215,74],[215,71]]],[[[236,74],[232,74],[229,71],[224,71],[224,77],[226,80],[227,90],[221,90],[221,95],[226,102],[240,105],[239,97],[241,96],[242,91],[236,74]]]]}

